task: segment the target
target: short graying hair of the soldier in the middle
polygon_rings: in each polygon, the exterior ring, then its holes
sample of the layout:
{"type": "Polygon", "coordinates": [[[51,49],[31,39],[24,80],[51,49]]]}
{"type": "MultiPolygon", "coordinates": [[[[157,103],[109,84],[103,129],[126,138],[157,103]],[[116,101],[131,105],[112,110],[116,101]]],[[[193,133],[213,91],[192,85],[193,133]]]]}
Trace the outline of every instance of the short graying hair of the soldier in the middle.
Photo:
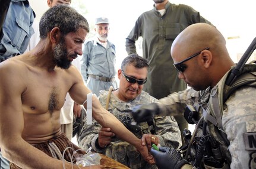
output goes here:
{"type": "Polygon", "coordinates": [[[148,60],[141,56],[138,56],[137,53],[129,54],[129,56],[125,57],[121,64],[121,70],[125,71],[127,65],[131,64],[132,66],[141,69],[143,67],[149,67],[148,60]]]}

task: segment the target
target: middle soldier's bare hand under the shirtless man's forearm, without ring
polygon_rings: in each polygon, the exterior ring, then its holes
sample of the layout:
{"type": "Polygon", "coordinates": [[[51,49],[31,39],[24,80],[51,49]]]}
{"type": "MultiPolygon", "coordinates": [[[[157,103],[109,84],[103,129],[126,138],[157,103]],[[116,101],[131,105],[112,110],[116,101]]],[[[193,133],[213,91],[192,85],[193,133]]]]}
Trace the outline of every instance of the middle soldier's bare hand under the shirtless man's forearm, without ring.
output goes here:
{"type": "Polygon", "coordinates": [[[110,131],[110,128],[102,127],[100,129],[99,138],[98,138],[99,146],[101,148],[106,147],[107,145],[110,144],[111,138],[114,137],[114,136],[115,136],[115,134],[110,131]]]}

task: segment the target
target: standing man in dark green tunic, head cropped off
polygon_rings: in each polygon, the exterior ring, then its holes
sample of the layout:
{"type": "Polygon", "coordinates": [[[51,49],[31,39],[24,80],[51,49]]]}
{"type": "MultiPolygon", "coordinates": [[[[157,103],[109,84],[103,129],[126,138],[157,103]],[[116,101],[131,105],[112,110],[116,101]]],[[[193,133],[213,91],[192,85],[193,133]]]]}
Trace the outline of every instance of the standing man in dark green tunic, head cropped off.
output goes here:
{"type": "MultiPolygon", "coordinates": [[[[170,56],[170,47],[176,36],[191,24],[209,21],[187,5],[170,4],[168,0],[153,0],[154,8],[138,17],[128,37],[128,54],[137,53],[135,41],[143,37],[143,57],[148,59],[147,83],[144,90],[156,99],[185,90],[187,85],[178,78],[170,56]]],[[[188,128],[182,116],[175,116],[179,128],[188,128]]]]}

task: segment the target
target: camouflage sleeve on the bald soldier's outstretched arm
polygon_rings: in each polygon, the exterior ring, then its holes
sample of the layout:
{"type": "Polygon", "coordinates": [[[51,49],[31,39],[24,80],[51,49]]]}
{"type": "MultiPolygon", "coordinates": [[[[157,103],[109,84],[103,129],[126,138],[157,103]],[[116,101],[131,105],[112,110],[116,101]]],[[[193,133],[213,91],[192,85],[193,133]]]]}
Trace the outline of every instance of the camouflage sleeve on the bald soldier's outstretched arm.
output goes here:
{"type": "Polygon", "coordinates": [[[198,100],[198,92],[193,89],[174,92],[159,100],[160,115],[183,115],[186,105],[193,105],[198,100]]]}

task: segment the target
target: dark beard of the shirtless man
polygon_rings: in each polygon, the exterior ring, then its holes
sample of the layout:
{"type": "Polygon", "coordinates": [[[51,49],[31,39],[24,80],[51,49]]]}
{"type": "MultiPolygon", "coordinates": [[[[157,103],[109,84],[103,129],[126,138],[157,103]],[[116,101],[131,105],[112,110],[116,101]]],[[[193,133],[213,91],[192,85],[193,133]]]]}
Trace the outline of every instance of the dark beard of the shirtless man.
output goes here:
{"type": "Polygon", "coordinates": [[[71,61],[68,60],[68,51],[64,40],[61,40],[61,42],[53,48],[53,60],[55,61],[56,66],[61,67],[61,69],[68,69],[71,66],[71,61]]]}

